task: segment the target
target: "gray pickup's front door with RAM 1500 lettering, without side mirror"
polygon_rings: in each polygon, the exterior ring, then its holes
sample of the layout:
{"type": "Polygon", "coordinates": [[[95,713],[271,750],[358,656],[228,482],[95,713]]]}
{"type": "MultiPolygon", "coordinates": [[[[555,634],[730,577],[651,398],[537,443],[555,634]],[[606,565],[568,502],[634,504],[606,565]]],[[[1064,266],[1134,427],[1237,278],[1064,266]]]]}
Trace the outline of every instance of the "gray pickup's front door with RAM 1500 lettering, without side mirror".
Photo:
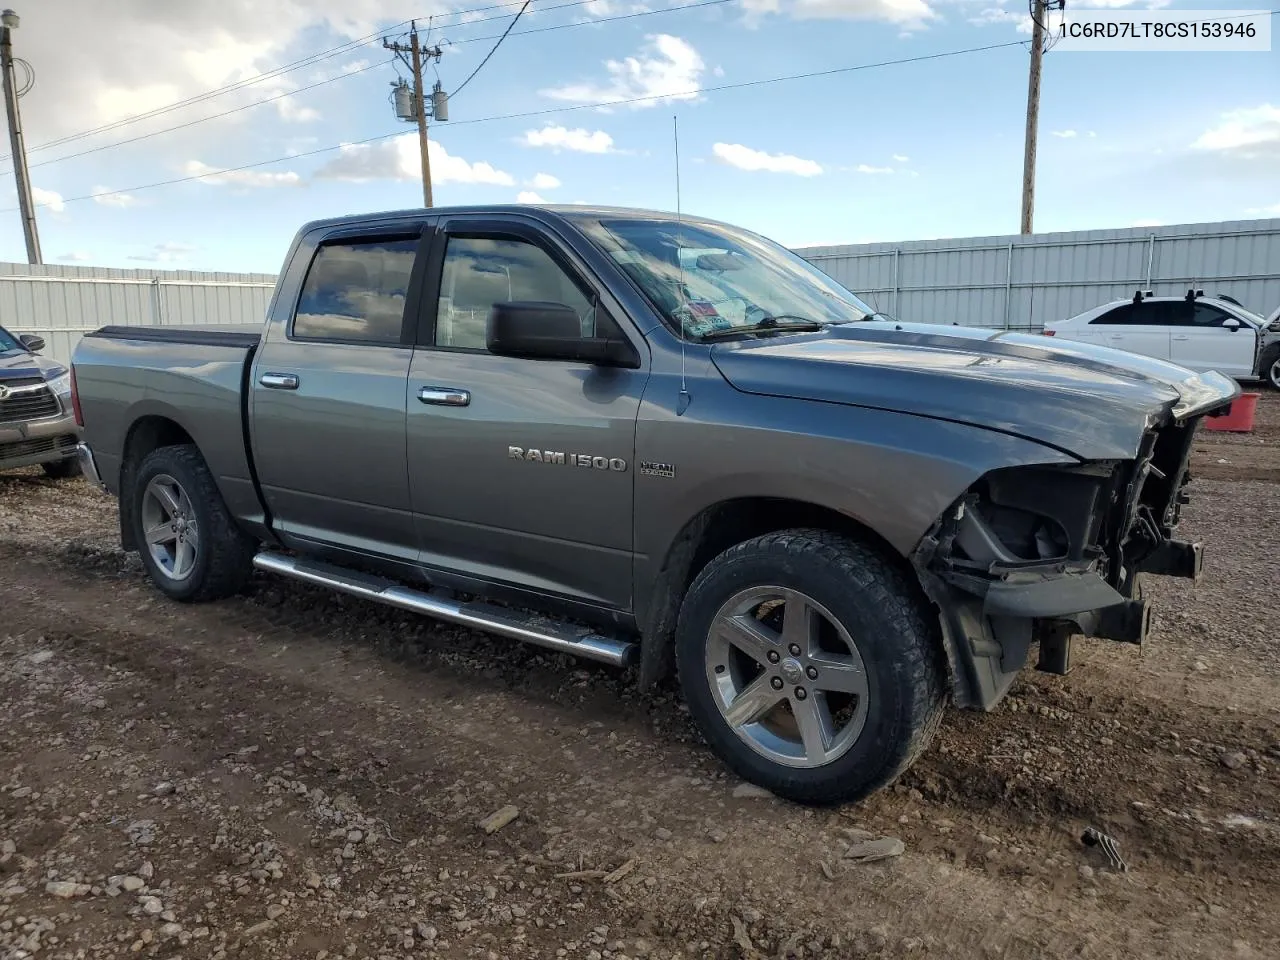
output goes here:
{"type": "MultiPolygon", "coordinates": [[[[568,305],[585,335],[621,311],[572,251],[518,218],[451,218],[440,228],[424,288],[431,315],[407,389],[421,559],[630,609],[632,458],[648,352],[636,370],[489,353],[485,320],[498,302],[568,305]]],[[[643,347],[634,329],[620,329],[643,347]]]]}

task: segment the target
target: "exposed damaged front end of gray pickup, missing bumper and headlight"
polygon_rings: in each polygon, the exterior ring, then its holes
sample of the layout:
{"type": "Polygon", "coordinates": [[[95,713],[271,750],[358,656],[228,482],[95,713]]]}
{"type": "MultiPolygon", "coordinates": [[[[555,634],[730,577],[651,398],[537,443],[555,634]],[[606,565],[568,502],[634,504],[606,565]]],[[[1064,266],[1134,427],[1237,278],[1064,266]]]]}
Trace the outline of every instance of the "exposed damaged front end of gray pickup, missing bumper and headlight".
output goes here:
{"type": "Polygon", "coordinates": [[[1070,668],[1078,634],[1140,644],[1142,575],[1199,576],[1199,544],[1174,538],[1198,421],[1148,426],[1133,460],[991,471],[934,524],[913,563],[941,613],[959,707],[995,707],[1033,643],[1053,673],[1070,668]]]}

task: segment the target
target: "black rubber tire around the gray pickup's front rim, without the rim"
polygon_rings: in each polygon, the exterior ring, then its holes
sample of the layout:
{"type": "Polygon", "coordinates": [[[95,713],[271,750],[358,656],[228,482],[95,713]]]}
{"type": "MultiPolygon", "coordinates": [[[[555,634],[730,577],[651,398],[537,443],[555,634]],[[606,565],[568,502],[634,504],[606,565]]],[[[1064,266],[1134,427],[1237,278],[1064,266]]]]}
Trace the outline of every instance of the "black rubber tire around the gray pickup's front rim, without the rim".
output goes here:
{"type": "MultiPolygon", "coordinates": [[[[931,622],[919,589],[877,550],[826,530],[767,534],[716,557],[689,589],[676,626],[681,689],[704,739],[744,780],[797,803],[858,801],[896,780],[938,730],[946,667],[931,622]],[[731,598],[763,585],[803,591],[824,607],[865,667],[861,731],[829,763],[795,767],[769,759],[735,732],[718,705],[708,676],[721,672],[707,659],[712,625],[731,598]]],[[[788,696],[794,705],[795,694],[788,696]]]]}

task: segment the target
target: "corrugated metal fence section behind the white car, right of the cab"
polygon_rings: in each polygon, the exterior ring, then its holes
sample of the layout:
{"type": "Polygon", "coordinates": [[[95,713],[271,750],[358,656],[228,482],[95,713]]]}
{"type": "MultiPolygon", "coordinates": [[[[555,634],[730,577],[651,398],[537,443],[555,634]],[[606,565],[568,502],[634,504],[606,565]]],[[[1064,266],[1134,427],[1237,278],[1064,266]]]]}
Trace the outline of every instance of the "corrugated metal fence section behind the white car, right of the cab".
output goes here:
{"type": "Polygon", "coordinates": [[[1135,289],[1280,306],[1280,219],[864,243],[795,251],[878,310],[914,323],[1041,329],[1135,289]]]}

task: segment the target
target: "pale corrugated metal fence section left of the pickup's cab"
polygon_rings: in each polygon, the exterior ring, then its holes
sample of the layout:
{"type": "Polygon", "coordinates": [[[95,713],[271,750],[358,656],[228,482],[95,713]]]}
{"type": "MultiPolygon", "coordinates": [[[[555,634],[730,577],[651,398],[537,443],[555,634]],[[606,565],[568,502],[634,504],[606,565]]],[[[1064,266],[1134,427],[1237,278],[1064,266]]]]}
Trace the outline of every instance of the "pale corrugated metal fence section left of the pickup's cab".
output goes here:
{"type": "Polygon", "coordinates": [[[274,284],[270,274],[0,264],[0,324],[44,337],[44,355],[67,362],[108,324],[260,324],[274,284]]]}

